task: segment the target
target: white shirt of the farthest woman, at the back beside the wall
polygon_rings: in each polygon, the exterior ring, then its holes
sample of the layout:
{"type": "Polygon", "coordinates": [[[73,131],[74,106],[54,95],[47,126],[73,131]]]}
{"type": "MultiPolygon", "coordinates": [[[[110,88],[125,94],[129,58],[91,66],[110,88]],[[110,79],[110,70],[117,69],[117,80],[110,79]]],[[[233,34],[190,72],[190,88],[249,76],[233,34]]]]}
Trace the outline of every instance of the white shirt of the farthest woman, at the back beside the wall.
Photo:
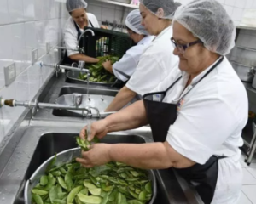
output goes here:
{"type": "MultiPolygon", "coordinates": [[[[98,20],[96,19],[96,16],[94,14],[86,13],[88,17],[88,27],[91,27],[90,22],[93,27],[99,28],[98,20]]],[[[74,25],[74,21],[72,17],[69,17],[67,20],[65,31],[64,31],[64,42],[66,48],[77,48],[78,46],[78,31],[74,25]]],[[[84,31],[84,29],[80,29],[81,32],[84,31]]],[[[73,54],[79,54],[78,51],[72,51],[67,50],[67,56],[73,55],[73,54]]]]}

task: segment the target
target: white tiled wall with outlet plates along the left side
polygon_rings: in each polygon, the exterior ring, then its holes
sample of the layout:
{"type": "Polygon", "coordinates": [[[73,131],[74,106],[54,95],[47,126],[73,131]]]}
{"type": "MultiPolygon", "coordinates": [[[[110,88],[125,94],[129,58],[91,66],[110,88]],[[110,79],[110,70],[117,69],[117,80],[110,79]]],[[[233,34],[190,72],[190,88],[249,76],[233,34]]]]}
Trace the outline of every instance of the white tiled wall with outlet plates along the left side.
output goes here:
{"type": "MultiPolygon", "coordinates": [[[[31,65],[31,50],[38,48],[44,63],[58,62],[53,51],[45,54],[45,42],[61,42],[68,18],[65,3],[53,0],[0,0],[0,96],[4,99],[30,100],[53,69],[31,65]],[[15,82],[5,87],[3,67],[15,62],[15,82]]],[[[22,107],[0,109],[0,142],[21,113],[22,107]]]]}

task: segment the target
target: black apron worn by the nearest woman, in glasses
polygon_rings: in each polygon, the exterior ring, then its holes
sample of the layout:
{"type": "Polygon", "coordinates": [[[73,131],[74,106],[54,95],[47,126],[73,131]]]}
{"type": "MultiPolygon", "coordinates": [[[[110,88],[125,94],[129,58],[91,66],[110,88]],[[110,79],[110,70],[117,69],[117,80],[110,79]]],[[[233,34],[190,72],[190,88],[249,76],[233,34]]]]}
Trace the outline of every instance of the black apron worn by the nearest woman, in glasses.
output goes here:
{"type": "MultiPolygon", "coordinates": [[[[192,88],[195,88],[196,84],[201,82],[207,75],[216,68],[224,57],[218,60],[218,62],[207,71],[207,73],[201,77],[201,79],[195,83],[192,88]]],[[[162,102],[166,97],[166,93],[181,79],[177,78],[172,85],[166,89],[166,91],[158,93],[145,94],[143,96],[143,102],[147,112],[148,122],[152,129],[154,142],[165,142],[167,131],[176,119],[177,119],[177,106],[180,105],[180,101],[175,104],[167,104],[162,102]]],[[[192,89],[191,88],[191,89],[192,89]]],[[[191,91],[191,89],[189,91],[191,91]]],[[[189,91],[185,94],[189,94],[189,91]]],[[[183,97],[185,96],[183,95],[183,97]]],[[[203,154],[203,153],[202,153],[203,154]]],[[[218,178],[218,159],[222,159],[224,156],[211,156],[210,159],[204,164],[195,164],[193,167],[177,169],[175,171],[184,178],[189,184],[195,186],[198,194],[201,196],[201,200],[206,204],[210,204],[213,199],[214,191],[218,178]]]]}

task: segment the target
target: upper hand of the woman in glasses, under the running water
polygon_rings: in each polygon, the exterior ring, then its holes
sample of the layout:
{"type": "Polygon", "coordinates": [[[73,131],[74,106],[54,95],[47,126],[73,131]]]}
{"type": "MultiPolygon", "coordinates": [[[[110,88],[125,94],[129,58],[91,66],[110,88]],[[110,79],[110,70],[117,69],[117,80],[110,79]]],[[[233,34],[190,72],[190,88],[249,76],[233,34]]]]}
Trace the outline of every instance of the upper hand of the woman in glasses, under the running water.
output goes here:
{"type": "MultiPolygon", "coordinates": [[[[80,131],[80,138],[85,139],[85,130],[87,129],[87,126],[85,126],[80,131]]],[[[88,135],[88,140],[91,141],[95,136],[99,139],[102,139],[106,134],[108,133],[108,127],[105,120],[93,122],[90,125],[90,135],[88,135]]]]}

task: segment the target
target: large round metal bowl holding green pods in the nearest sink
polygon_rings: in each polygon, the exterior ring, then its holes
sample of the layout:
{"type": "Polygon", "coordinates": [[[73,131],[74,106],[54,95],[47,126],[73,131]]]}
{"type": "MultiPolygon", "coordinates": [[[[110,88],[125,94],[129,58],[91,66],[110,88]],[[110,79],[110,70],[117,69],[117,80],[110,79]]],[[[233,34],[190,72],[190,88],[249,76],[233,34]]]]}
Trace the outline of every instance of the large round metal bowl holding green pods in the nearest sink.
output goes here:
{"type": "MultiPolygon", "coordinates": [[[[70,150],[61,151],[56,156],[55,165],[61,166],[61,164],[70,162],[73,160],[73,158],[79,157],[80,155],[81,155],[80,148],[73,148],[70,150]]],[[[25,190],[24,190],[25,204],[32,204],[31,190],[39,183],[41,176],[44,175],[45,170],[49,165],[49,162],[52,159],[54,159],[54,157],[55,156],[51,156],[47,161],[44,161],[44,163],[40,167],[38,167],[35,173],[32,174],[31,178],[29,178],[29,180],[26,181],[25,190]]],[[[157,194],[156,178],[153,170],[148,171],[148,177],[152,181],[152,187],[153,187],[152,199],[151,201],[148,202],[148,204],[153,204],[157,194]]]]}

